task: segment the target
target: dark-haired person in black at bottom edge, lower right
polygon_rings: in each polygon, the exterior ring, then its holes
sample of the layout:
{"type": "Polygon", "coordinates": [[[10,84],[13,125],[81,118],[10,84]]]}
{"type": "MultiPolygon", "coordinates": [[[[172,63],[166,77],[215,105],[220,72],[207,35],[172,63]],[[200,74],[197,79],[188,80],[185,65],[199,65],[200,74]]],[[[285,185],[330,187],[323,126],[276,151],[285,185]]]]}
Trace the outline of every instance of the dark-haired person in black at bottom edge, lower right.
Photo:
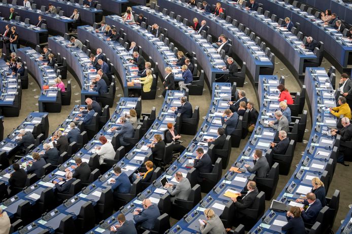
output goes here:
{"type": "Polygon", "coordinates": [[[301,213],[299,207],[291,206],[290,211],[286,213],[287,223],[281,227],[281,231],[287,231],[286,233],[290,234],[306,233],[301,213]]]}

